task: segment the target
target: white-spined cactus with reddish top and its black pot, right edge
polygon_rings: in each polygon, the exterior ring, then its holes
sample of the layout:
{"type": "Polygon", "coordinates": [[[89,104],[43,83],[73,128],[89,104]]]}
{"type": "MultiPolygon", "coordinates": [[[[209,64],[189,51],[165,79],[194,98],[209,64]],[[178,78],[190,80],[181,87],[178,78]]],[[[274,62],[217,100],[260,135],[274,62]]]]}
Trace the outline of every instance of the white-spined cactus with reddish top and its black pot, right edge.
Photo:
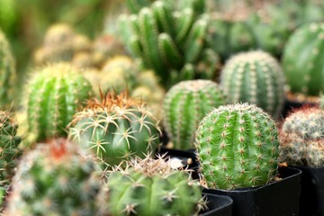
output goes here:
{"type": "Polygon", "coordinates": [[[324,215],[324,111],[303,107],[285,120],[280,162],[302,170],[300,215],[324,215]]]}

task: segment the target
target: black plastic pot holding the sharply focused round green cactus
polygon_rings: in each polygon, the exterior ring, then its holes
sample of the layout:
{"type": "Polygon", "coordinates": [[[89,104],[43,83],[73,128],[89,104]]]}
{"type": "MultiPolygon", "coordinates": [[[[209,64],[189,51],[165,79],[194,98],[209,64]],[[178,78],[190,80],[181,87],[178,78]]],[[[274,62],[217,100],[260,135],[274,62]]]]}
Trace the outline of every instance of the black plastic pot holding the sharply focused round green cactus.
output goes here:
{"type": "Polygon", "coordinates": [[[203,189],[205,193],[229,195],[234,216],[298,215],[302,171],[294,167],[279,168],[282,178],[271,184],[235,190],[203,189]]]}

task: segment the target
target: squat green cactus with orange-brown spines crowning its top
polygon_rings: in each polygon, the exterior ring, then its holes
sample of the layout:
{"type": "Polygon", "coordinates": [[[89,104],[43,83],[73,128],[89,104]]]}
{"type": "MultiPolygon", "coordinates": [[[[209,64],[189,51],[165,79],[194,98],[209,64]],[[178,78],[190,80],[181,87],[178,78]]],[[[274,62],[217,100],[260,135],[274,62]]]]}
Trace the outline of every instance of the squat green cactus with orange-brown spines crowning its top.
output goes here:
{"type": "Polygon", "coordinates": [[[159,144],[157,121],[141,101],[127,94],[105,95],[103,102],[88,103],[71,122],[69,139],[110,166],[131,157],[145,157],[159,144]]]}

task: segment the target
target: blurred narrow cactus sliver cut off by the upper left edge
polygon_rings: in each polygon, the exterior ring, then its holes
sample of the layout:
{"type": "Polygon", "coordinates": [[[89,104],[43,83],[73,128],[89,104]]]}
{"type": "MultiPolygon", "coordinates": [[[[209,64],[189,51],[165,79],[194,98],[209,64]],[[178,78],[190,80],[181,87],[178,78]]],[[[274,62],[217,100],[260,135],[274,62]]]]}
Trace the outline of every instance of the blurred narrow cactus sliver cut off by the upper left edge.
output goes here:
{"type": "Polygon", "coordinates": [[[14,102],[16,71],[14,56],[4,32],[0,29],[0,107],[9,109],[14,102]]]}

